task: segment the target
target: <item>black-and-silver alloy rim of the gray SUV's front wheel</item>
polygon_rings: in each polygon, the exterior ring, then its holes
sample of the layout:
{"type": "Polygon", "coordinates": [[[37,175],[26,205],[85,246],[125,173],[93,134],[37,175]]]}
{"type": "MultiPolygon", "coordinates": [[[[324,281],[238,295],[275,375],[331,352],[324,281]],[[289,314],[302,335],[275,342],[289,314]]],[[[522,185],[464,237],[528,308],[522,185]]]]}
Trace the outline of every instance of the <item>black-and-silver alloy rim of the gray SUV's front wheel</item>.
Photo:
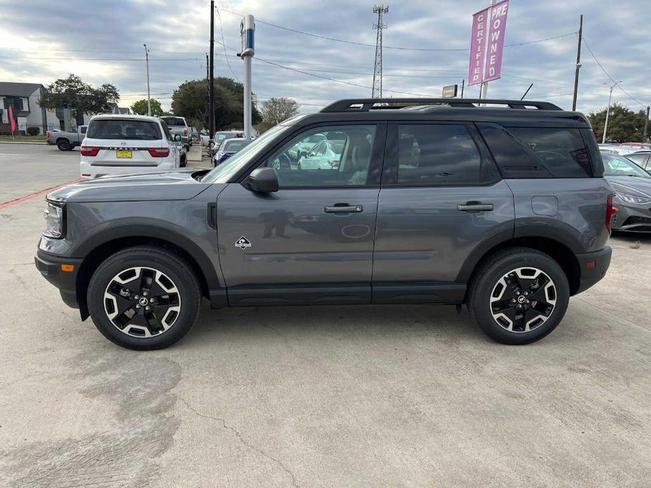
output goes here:
{"type": "MultiPolygon", "coordinates": [[[[142,303],[142,300],[143,300],[143,298],[140,298],[138,300],[139,304],[142,303]]],[[[104,307],[104,313],[106,314],[106,317],[108,318],[110,323],[112,323],[113,326],[116,329],[120,330],[121,333],[123,333],[125,335],[129,335],[129,337],[133,337],[133,338],[140,338],[140,339],[142,339],[142,338],[145,338],[145,339],[146,338],[154,338],[154,337],[158,337],[159,335],[162,335],[163,333],[170,330],[170,328],[172,328],[172,326],[174,326],[174,324],[179,319],[179,314],[181,313],[181,294],[179,293],[177,285],[174,283],[174,281],[172,281],[172,278],[170,278],[168,275],[164,274],[163,271],[160,271],[160,270],[158,270],[156,268],[147,267],[147,266],[134,266],[134,267],[129,267],[129,268],[126,268],[126,269],[122,269],[122,271],[120,271],[118,274],[113,276],[113,278],[111,278],[108,281],[108,285],[106,285],[106,289],[104,290],[104,295],[103,295],[103,307],[104,307]],[[132,271],[132,270],[134,270],[135,273],[136,273],[136,275],[134,277],[129,278],[129,279],[120,278],[120,275],[125,274],[125,273],[127,273],[127,271],[132,271]],[[120,283],[121,285],[126,285],[127,283],[132,283],[132,281],[137,280],[137,279],[139,279],[141,277],[143,270],[153,271],[154,272],[154,281],[156,281],[156,284],[158,284],[163,290],[165,290],[166,293],[177,295],[178,303],[173,305],[173,306],[168,307],[168,309],[165,311],[165,314],[163,315],[163,318],[160,319],[160,325],[163,326],[163,329],[158,331],[157,333],[151,333],[151,331],[147,327],[140,326],[140,325],[137,325],[137,324],[128,324],[127,323],[127,325],[124,328],[120,328],[113,321],[113,319],[115,319],[115,317],[120,315],[120,312],[118,311],[118,302],[115,299],[115,296],[113,294],[109,293],[110,285],[112,285],[113,283],[120,283]],[[165,283],[163,283],[163,281],[161,281],[161,278],[165,278],[171,284],[171,286],[165,285],[165,283]],[[106,300],[111,300],[113,302],[115,312],[109,312],[108,311],[108,309],[106,308],[106,300]],[[170,314],[172,312],[176,312],[176,315],[175,315],[174,319],[170,322],[170,321],[168,321],[168,318],[169,318],[169,316],[170,316],[170,314]],[[129,331],[131,329],[140,330],[142,332],[142,334],[129,333],[129,331]]]]}

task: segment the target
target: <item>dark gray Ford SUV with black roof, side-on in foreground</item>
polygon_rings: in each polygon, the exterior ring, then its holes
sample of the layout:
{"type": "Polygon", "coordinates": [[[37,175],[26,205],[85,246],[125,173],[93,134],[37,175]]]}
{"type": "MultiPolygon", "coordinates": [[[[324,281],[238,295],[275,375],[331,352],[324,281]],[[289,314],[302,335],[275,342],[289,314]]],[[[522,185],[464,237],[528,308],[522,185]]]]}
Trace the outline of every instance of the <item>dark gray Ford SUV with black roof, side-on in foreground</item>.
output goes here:
{"type": "Polygon", "coordinates": [[[343,100],[211,170],[50,193],[35,261],[82,320],[132,349],[182,338],[202,298],[466,304],[491,338],[526,344],[604,276],[613,193],[581,113],[343,100]],[[329,142],[318,155],[315,139],[329,142]]]}

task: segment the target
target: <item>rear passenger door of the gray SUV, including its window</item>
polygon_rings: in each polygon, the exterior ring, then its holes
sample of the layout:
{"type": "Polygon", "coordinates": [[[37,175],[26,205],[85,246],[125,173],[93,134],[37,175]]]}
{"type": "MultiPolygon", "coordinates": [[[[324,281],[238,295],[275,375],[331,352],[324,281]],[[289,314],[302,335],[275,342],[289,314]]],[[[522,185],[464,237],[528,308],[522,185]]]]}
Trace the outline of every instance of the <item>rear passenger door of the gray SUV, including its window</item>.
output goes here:
{"type": "Polygon", "coordinates": [[[512,192],[472,124],[389,124],[374,302],[457,302],[473,250],[513,226],[512,192]]]}

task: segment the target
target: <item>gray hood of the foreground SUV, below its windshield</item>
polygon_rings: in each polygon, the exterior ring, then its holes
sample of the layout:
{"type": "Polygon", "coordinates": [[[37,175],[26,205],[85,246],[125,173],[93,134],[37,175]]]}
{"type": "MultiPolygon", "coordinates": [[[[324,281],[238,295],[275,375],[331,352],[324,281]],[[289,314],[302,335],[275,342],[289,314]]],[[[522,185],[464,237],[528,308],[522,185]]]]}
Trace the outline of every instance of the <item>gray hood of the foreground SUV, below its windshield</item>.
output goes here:
{"type": "Polygon", "coordinates": [[[47,198],[78,203],[190,200],[210,186],[192,177],[201,172],[201,169],[195,168],[175,172],[104,176],[64,186],[49,193],[47,198]]]}

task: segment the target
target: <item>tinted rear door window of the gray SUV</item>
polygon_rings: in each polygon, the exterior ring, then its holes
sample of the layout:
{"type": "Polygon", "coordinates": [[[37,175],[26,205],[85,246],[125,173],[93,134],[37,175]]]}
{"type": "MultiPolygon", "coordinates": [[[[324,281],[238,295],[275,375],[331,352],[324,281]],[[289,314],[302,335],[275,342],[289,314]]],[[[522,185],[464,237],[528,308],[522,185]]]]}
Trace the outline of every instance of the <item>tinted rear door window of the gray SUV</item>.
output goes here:
{"type": "Polygon", "coordinates": [[[477,184],[481,155],[463,125],[400,124],[399,185],[477,184]]]}

